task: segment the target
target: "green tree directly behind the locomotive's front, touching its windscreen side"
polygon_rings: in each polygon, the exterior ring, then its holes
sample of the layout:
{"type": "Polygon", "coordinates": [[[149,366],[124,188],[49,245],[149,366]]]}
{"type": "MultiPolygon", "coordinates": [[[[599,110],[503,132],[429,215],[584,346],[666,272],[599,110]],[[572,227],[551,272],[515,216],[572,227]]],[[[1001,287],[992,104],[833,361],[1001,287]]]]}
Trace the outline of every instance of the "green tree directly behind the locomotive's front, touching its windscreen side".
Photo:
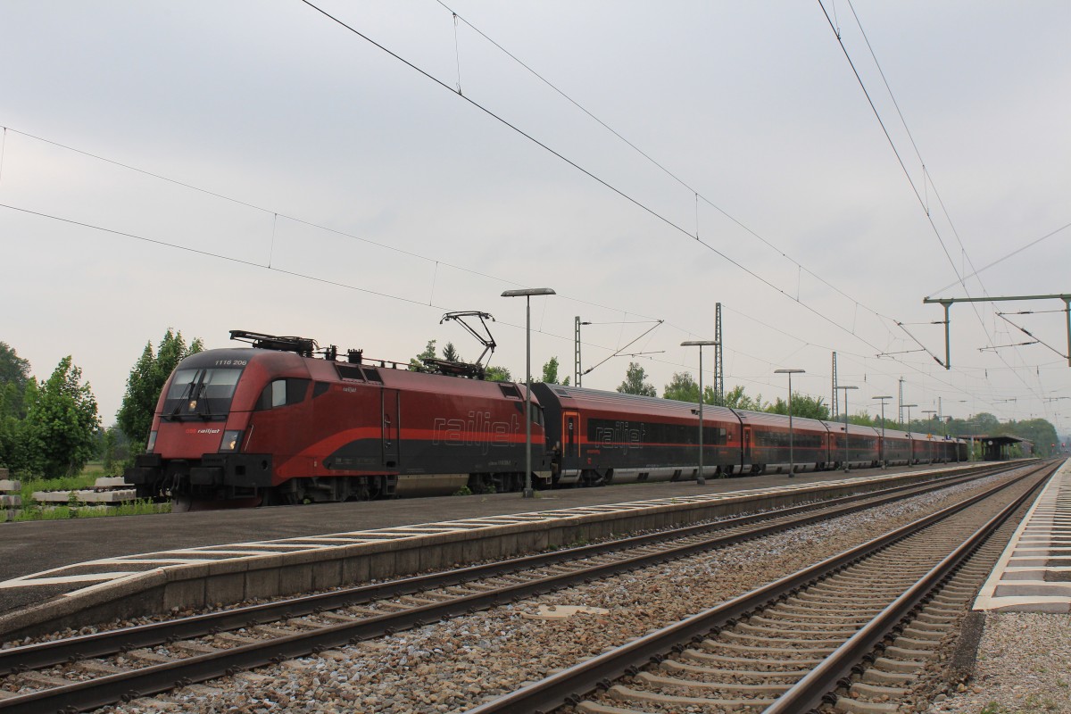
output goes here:
{"type": "Polygon", "coordinates": [[[182,333],[172,332],[170,328],[160,340],[155,352],[152,343],[146,343],[141,356],[126,378],[126,394],[123,395],[123,404],[116,414],[119,428],[137,451],[145,449],[149,440],[152,415],[156,411],[156,401],[167,378],[175,371],[179,362],[202,349],[205,345],[199,337],[187,346],[182,333]]]}

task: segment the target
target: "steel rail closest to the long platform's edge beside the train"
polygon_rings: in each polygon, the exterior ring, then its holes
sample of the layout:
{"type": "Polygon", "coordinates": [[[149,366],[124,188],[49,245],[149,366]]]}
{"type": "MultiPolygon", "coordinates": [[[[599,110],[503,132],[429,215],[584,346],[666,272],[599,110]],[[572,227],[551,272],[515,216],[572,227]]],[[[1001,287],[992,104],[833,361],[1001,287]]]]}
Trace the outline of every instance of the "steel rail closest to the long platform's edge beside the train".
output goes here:
{"type": "MultiPolygon", "coordinates": [[[[984,477],[993,472],[992,469],[983,469],[968,473],[951,474],[947,477],[935,478],[921,484],[906,484],[877,489],[863,493],[853,493],[849,496],[829,499],[823,502],[810,502],[801,505],[767,511],[746,516],[737,516],[711,523],[699,523],[685,526],[669,531],[658,533],[647,533],[627,538],[620,538],[612,543],[592,544],[576,548],[565,548],[555,552],[539,553],[534,556],[524,556],[521,558],[496,561],[481,565],[472,565],[454,571],[432,573],[427,575],[399,578],[387,582],[371,586],[359,586],[346,588],[328,593],[315,595],[304,595],[291,597],[273,603],[262,603],[245,607],[224,610],[221,612],[209,612],[196,614],[166,622],[157,622],[122,629],[106,631],[92,635],[81,635],[76,637],[27,644],[17,648],[0,650],[0,675],[18,673],[27,669],[39,669],[50,665],[70,662],[72,659],[84,659],[88,657],[99,657],[134,650],[145,647],[153,647],[167,642],[168,640],[188,639],[193,637],[203,637],[213,631],[224,631],[235,627],[252,627],[259,624],[267,624],[278,620],[286,620],[306,614],[315,614],[327,609],[338,609],[366,604],[376,599],[399,597],[412,595],[434,588],[448,588],[459,586],[473,580],[492,578],[500,575],[512,574],[522,569],[532,569],[545,567],[557,563],[575,561],[594,556],[603,556],[630,548],[637,548],[645,545],[664,543],[666,541],[690,537],[703,533],[725,531],[734,528],[750,526],[756,522],[773,521],[765,531],[755,531],[749,537],[759,537],[768,535],[780,529],[796,528],[808,525],[815,519],[835,517],[845,515],[861,508],[875,507],[893,500],[905,498],[904,492],[925,492],[938,488],[964,483],[966,481],[984,477]],[[831,513],[832,512],[832,515],[831,513]],[[812,513],[810,520],[794,519],[788,522],[776,522],[778,519],[795,516],[798,514],[812,513]]],[[[713,545],[723,545],[719,538],[712,538],[713,545]]],[[[704,547],[710,547],[711,542],[705,542],[704,547]]],[[[724,545],[731,545],[726,542],[724,545]]],[[[664,551],[668,553],[670,551],[664,551]]],[[[663,553],[663,555],[664,555],[663,553]]],[[[672,556],[665,556],[669,558],[672,556]]],[[[3,700],[0,700],[0,711],[3,710],[3,700]]]]}

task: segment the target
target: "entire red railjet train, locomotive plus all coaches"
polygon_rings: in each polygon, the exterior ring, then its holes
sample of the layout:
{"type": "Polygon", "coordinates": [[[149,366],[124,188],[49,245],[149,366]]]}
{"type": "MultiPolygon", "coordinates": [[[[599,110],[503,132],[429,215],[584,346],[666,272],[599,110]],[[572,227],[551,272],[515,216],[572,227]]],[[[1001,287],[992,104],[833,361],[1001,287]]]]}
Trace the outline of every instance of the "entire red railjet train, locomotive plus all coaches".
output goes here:
{"type": "MultiPolygon", "coordinates": [[[[125,476],[141,498],[260,505],[510,491],[525,481],[525,385],[479,365],[437,374],[340,356],[312,339],[231,331],[252,348],[183,360],[125,476]],[[319,356],[315,356],[319,354],[319,356]]],[[[698,475],[696,405],[532,384],[532,483],[599,486],[698,475]]],[[[705,407],[704,476],[788,471],[788,417],[705,407]]],[[[797,471],[963,460],[966,444],[793,420],[797,471]]]]}

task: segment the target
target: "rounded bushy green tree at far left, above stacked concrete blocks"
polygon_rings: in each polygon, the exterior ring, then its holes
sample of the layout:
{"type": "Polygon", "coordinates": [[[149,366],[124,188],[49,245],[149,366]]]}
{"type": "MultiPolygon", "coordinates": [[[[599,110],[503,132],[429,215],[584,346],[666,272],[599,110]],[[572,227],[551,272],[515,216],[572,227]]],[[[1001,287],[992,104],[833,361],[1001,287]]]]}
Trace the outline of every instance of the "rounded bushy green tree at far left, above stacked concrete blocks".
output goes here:
{"type": "Polygon", "coordinates": [[[78,473],[96,453],[94,434],[100,426],[96,398],[67,355],[41,383],[27,409],[24,443],[30,468],[48,476],[78,473]]]}

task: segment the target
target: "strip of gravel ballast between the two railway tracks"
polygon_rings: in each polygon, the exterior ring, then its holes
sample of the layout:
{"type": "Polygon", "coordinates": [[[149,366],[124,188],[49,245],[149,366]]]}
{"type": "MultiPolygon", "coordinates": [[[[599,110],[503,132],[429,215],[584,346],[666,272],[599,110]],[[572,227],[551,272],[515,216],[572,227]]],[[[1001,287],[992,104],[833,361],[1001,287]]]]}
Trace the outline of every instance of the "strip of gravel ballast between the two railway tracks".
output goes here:
{"type": "MultiPolygon", "coordinates": [[[[211,689],[186,687],[165,699],[192,712],[462,712],[959,501],[991,482],[216,680],[208,683],[211,689]],[[540,605],[607,612],[541,619],[540,605]]],[[[132,714],[159,708],[134,701],[107,711],[132,714]]]]}

